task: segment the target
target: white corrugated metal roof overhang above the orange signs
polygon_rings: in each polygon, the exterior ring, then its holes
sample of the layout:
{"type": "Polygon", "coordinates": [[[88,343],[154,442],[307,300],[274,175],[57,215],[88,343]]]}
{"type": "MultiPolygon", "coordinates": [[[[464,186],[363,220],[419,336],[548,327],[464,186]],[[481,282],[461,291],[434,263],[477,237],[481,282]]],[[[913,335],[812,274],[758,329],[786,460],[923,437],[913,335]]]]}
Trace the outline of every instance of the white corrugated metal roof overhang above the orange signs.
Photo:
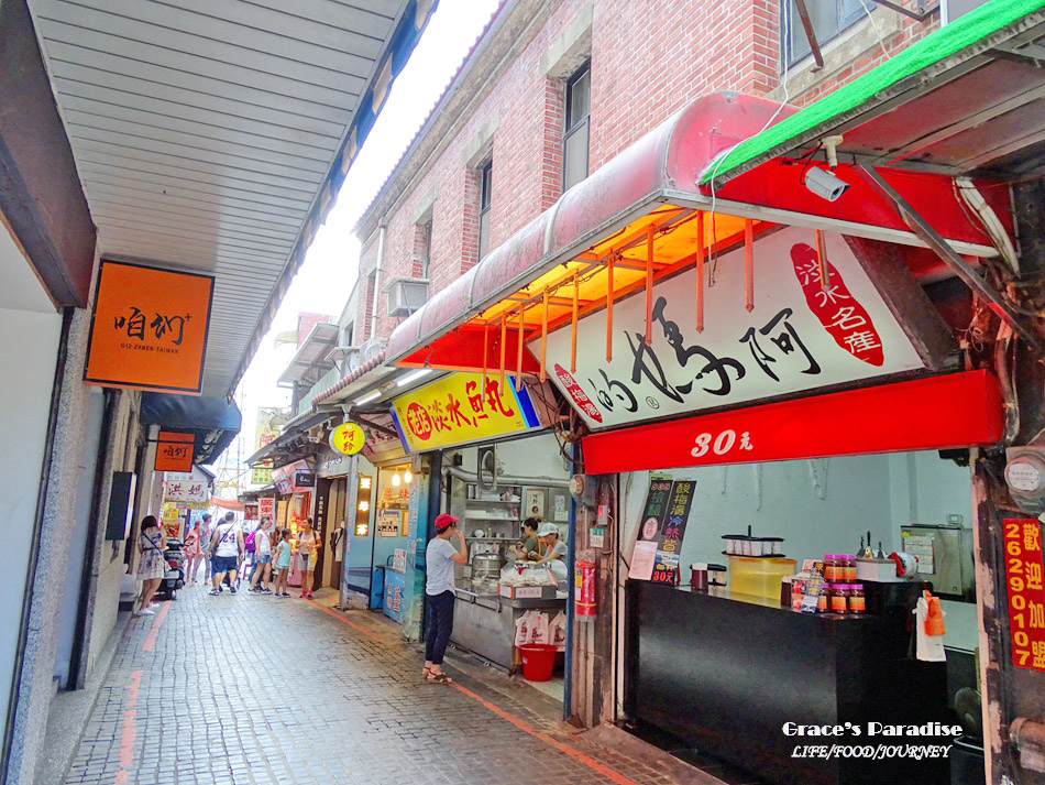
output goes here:
{"type": "Polygon", "coordinates": [[[216,276],[231,392],[433,0],[31,0],[108,258],[216,276]]]}

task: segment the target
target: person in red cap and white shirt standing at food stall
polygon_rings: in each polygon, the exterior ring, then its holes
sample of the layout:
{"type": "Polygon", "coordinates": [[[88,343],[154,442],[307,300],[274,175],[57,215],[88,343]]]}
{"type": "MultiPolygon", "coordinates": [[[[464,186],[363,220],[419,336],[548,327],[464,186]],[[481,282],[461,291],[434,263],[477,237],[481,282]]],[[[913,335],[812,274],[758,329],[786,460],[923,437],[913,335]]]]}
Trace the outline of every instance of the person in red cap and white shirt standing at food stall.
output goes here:
{"type": "Polygon", "coordinates": [[[436,536],[425,552],[428,596],[428,635],[425,641],[425,669],[421,677],[435,684],[450,684],[452,679],[442,672],[442,658],[453,632],[453,564],[468,564],[464,535],[458,528],[458,519],[442,513],[436,517],[436,536]],[[453,535],[458,545],[450,542],[453,535]]]}

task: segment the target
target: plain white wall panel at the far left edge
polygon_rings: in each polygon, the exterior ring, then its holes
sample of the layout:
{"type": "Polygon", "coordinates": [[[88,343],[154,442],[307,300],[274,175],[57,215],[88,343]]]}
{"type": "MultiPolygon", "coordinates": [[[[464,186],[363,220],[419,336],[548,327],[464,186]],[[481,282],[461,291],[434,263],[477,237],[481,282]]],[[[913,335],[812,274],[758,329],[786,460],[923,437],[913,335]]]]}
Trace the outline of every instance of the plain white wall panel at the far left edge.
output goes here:
{"type": "MultiPolygon", "coordinates": [[[[2,232],[6,233],[6,232],[2,232]]],[[[44,462],[51,393],[62,332],[56,313],[0,308],[0,536],[6,575],[0,580],[0,709],[14,674],[25,576],[44,462]]]]}

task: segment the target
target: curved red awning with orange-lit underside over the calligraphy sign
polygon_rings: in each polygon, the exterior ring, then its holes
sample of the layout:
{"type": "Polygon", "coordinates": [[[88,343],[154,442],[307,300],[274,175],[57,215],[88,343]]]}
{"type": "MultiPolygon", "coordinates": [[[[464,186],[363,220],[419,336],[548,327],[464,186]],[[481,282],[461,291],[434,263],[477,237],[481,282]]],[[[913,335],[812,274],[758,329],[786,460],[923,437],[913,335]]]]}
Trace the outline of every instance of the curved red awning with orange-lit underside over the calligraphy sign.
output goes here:
{"type": "MultiPolygon", "coordinates": [[[[553,207],[436,294],[392,335],[386,362],[450,370],[504,366],[510,371],[543,371],[542,359],[525,346],[520,350],[520,345],[603,308],[607,309],[608,338],[615,301],[650,291],[656,281],[680,270],[714,263],[729,249],[750,247],[755,238],[780,223],[810,228],[811,241],[814,230],[832,230],[927,247],[872,187],[862,188],[856,198],[827,201],[801,185],[801,165],[778,167],[780,182],[734,193],[728,200],[698,185],[719,153],[793,113],[745,95],[697,99],[563,194],[553,207]]],[[[969,219],[949,177],[879,172],[931,217],[952,248],[975,257],[997,253],[983,228],[969,219]]],[[[1003,223],[1007,216],[1007,209],[1000,211],[1003,223]]],[[[915,253],[921,258],[912,255],[910,265],[936,264],[932,254],[915,253]]],[[[763,263],[749,260],[749,291],[757,285],[758,266],[763,263]]],[[[738,307],[743,309],[744,303],[738,307]]],[[[593,349],[585,347],[585,351],[593,349]]]]}

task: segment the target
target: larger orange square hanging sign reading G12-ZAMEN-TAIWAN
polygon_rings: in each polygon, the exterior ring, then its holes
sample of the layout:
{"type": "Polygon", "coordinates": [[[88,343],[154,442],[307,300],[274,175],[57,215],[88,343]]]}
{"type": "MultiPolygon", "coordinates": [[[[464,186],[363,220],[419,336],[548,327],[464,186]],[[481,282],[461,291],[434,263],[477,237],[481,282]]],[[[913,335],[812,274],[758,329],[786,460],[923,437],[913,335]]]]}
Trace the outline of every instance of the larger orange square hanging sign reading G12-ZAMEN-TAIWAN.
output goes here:
{"type": "Polygon", "coordinates": [[[199,395],[215,280],[103,261],[84,381],[199,395]]]}

